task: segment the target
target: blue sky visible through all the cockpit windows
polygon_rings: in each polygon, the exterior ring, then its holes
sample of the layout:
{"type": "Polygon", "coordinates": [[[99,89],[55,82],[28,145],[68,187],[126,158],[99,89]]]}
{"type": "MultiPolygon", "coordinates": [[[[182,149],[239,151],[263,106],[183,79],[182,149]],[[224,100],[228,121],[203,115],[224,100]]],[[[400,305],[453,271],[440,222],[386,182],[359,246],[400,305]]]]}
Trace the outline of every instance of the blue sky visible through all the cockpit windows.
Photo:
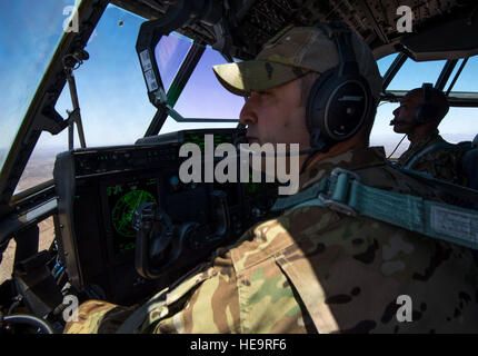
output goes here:
{"type": "MultiPolygon", "coordinates": [[[[47,67],[48,59],[61,36],[67,18],[62,11],[73,0],[18,0],[0,2],[0,148],[11,145],[27,110],[29,100],[47,67]],[[8,4],[7,4],[8,3],[8,4]]],[[[143,19],[116,7],[109,7],[94,30],[88,47],[91,58],[74,72],[88,146],[132,144],[146,132],[156,109],[149,102],[135,44],[143,19]]],[[[186,46],[186,47],[185,47],[186,46]]],[[[171,40],[161,47],[158,57],[171,58],[163,66],[172,73],[179,67],[180,53],[187,44],[171,40]],[[175,53],[177,57],[175,57],[175,53]],[[172,56],[172,57],[171,57],[172,56]]],[[[211,66],[225,62],[208,50],[176,109],[185,117],[237,118],[243,99],[227,92],[217,82],[211,66]]],[[[379,61],[382,72],[391,58],[379,61]]],[[[395,79],[390,88],[411,89],[424,81],[435,81],[439,62],[406,65],[406,73],[395,79]]],[[[457,89],[476,90],[477,58],[472,58],[457,82],[457,89]]],[[[167,78],[166,78],[167,79],[167,78]]],[[[68,87],[67,87],[68,88],[68,87]]],[[[398,142],[389,121],[397,105],[385,103],[378,109],[372,144],[398,142]]],[[[63,90],[57,110],[66,116],[71,109],[68,89],[63,90]]],[[[444,137],[451,141],[472,139],[478,134],[478,109],[451,109],[441,125],[444,137]]],[[[218,125],[217,127],[225,126],[218,125]]],[[[198,127],[168,120],[165,131],[198,127]]],[[[231,127],[231,125],[229,125],[231,127]]],[[[78,146],[78,139],[76,140],[78,146]]],[[[67,148],[67,132],[52,137],[43,132],[39,147],[67,148]]],[[[406,144],[402,144],[407,146],[406,144]]]]}

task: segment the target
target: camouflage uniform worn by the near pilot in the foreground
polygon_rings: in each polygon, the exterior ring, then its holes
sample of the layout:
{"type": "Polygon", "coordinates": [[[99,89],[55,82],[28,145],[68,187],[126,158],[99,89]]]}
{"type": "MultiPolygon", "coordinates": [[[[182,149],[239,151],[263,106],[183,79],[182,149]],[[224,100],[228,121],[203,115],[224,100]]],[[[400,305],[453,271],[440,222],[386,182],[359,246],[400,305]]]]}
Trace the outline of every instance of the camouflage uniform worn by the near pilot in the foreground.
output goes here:
{"type": "MultiPolygon", "coordinates": [[[[439,199],[388,166],[382,148],[312,165],[300,176],[300,190],[335,167],[357,172],[368,186],[439,199]]],[[[466,248],[371,218],[302,207],[218,249],[210,263],[156,295],[130,322],[138,333],[477,333],[477,271],[466,248]],[[411,298],[410,323],[397,319],[400,295],[411,298]]],[[[80,322],[66,330],[112,330],[129,314],[88,301],[80,322]]]]}

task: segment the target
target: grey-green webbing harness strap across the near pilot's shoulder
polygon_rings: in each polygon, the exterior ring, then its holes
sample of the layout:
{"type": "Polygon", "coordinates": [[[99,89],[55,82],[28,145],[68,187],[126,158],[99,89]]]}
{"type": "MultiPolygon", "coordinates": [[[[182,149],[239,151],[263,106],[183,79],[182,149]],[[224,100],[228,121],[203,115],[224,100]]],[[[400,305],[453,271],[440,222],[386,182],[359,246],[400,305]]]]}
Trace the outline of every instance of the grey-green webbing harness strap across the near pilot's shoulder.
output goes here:
{"type": "Polygon", "coordinates": [[[367,216],[478,249],[478,210],[372,188],[361,184],[357,174],[342,168],[335,168],[330,176],[301,191],[300,196],[279,198],[272,210],[302,207],[326,207],[348,216],[367,216]]]}

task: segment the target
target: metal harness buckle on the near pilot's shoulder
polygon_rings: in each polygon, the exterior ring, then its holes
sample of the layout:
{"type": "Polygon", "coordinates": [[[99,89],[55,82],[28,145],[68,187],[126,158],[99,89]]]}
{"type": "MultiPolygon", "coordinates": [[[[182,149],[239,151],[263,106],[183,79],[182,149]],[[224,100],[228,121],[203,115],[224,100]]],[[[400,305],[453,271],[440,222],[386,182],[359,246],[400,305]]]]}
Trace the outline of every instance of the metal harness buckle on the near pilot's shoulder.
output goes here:
{"type": "Polygon", "coordinates": [[[327,208],[347,216],[357,216],[357,210],[347,204],[351,180],[360,181],[360,176],[351,170],[335,168],[329,176],[327,192],[320,194],[319,199],[327,208]]]}

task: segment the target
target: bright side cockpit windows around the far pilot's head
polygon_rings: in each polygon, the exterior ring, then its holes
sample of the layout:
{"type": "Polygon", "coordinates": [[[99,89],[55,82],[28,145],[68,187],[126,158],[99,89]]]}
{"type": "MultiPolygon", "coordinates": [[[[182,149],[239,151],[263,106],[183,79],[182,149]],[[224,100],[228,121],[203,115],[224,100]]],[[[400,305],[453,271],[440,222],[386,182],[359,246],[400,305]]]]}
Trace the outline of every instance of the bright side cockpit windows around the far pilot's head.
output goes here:
{"type": "MultiPolygon", "coordinates": [[[[378,60],[381,76],[386,75],[396,58],[397,53],[394,53],[378,60]]],[[[446,63],[446,60],[417,62],[408,58],[388,85],[387,92],[404,96],[411,89],[420,88],[424,82],[430,82],[435,86],[446,63]]],[[[477,103],[471,102],[474,100],[478,102],[478,86],[474,80],[477,73],[478,56],[459,59],[444,86],[442,91],[446,93],[449,91],[450,109],[438,129],[440,136],[450,144],[470,141],[478,134],[478,126],[476,125],[478,108],[477,103]],[[459,72],[465,60],[465,66],[459,72]],[[455,79],[457,72],[459,76],[455,79]],[[454,103],[457,99],[459,102],[454,103]],[[469,100],[468,103],[467,100],[469,100]]],[[[394,110],[398,107],[398,102],[387,100],[380,102],[370,136],[370,145],[384,146],[386,156],[390,157],[391,160],[396,160],[409,147],[408,139],[404,138],[404,135],[394,132],[394,128],[390,126],[394,110]],[[402,138],[404,140],[399,144],[402,138]]]]}

